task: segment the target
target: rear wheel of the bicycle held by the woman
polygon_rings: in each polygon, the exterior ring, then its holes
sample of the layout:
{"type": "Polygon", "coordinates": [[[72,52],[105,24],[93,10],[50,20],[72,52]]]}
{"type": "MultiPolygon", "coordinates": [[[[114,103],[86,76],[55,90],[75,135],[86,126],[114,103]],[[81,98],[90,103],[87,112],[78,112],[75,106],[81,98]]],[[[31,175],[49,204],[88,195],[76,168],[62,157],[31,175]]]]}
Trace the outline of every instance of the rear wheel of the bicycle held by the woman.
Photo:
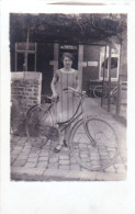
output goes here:
{"type": "Polygon", "coordinates": [[[32,146],[42,147],[47,144],[48,138],[38,128],[44,125],[54,125],[52,113],[45,105],[32,106],[26,114],[26,135],[32,146]]]}

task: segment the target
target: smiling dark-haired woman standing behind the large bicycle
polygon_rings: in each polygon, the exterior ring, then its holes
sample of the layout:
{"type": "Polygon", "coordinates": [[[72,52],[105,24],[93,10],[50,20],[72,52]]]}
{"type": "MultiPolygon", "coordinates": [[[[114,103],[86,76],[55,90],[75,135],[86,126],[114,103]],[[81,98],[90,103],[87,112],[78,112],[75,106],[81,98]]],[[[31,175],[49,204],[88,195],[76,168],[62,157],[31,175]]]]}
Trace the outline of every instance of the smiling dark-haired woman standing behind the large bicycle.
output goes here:
{"type": "MultiPolygon", "coordinates": [[[[72,92],[67,92],[64,89],[71,87],[76,91],[80,90],[79,72],[72,68],[74,57],[70,53],[64,53],[61,57],[64,67],[56,70],[52,80],[53,98],[59,98],[56,104],[57,123],[68,121],[76,111],[77,98],[72,92]]],[[[60,128],[60,127],[59,127],[60,128]]],[[[65,129],[64,137],[59,137],[59,143],[55,148],[55,151],[60,151],[61,147],[68,144],[69,127],[65,129]]]]}

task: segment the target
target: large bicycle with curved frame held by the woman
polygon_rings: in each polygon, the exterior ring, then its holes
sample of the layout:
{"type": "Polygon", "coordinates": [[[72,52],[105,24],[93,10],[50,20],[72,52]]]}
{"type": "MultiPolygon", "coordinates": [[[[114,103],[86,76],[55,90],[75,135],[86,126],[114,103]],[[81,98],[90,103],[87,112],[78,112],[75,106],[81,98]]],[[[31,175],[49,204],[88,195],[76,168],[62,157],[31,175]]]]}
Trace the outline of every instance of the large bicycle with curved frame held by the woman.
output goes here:
{"type": "MultiPolygon", "coordinates": [[[[89,116],[85,112],[85,92],[77,92],[72,88],[65,90],[79,97],[79,104],[71,119],[57,123],[57,125],[64,125],[64,128],[74,123],[69,132],[69,151],[82,168],[92,171],[104,170],[115,161],[119,154],[119,140],[115,131],[108,122],[98,116],[89,116]]],[[[40,104],[27,112],[26,133],[30,140],[33,139],[33,135],[37,140],[38,137],[43,137],[44,140],[44,136],[52,140],[58,139],[59,131],[54,127],[52,115],[53,105],[54,102],[47,106],[40,104]]],[[[47,140],[45,140],[46,143],[47,140]]]]}

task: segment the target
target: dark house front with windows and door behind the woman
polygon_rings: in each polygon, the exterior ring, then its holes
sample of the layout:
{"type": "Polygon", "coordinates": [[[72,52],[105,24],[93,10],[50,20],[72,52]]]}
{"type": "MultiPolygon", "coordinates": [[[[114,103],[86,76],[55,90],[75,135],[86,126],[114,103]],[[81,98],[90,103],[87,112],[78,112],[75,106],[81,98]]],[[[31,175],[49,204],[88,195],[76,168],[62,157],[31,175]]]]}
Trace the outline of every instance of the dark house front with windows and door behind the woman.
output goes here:
{"type": "MultiPolygon", "coordinates": [[[[24,71],[26,43],[15,43],[12,55],[12,71],[24,71]],[[14,56],[14,57],[13,57],[14,56]]],[[[89,90],[90,80],[103,79],[103,61],[105,56],[104,44],[71,44],[68,43],[30,43],[27,49],[27,70],[42,72],[42,94],[50,94],[50,81],[53,74],[63,64],[61,55],[69,52],[74,55],[72,67],[79,70],[82,90],[89,90]]],[[[120,48],[119,44],[112,48],[111,55],[111,78],[117,81],[120,71],[120,48]]],[[[106,46],[106,56],[109,58],[109,46],[106,46]]],[[[105,79],[109,78],[108,60],[105,61],[105,79]]]]}

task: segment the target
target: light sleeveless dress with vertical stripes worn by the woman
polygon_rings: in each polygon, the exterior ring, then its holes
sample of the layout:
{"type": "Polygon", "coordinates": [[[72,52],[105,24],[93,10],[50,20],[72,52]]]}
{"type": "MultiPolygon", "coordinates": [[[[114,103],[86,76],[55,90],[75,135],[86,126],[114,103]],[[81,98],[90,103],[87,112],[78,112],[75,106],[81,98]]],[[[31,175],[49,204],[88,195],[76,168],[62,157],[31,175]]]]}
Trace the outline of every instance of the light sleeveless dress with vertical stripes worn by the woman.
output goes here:
{"type": "Polygon", "coordinates": [[[55,71],[54,77],[57,81],[56,91],[59,97],[58,102],[55,104],[55,119],[56,122],[65,122],[69,120],[77,110],[79,98],[75,97],[72,92],[67,92],[64,89],[71,87],[77,88],[78,70],[58,69],[55,71]]]}

